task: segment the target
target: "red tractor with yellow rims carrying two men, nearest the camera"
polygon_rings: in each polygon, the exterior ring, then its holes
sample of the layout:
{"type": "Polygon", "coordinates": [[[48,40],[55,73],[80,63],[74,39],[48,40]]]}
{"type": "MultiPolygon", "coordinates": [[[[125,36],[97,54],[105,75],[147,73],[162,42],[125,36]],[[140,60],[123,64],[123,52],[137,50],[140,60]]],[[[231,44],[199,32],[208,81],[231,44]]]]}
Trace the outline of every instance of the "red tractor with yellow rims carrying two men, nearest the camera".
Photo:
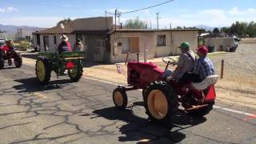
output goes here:
{"type": "Polygon", "coordinates": [[[178,106],[194,116],[202,117],[213,109],[216,97],[214,84],[218,75],[206,78],[200,83],[180,86],[177,80],[166,81],[171,71],[168,66],[176,62],[172,58],[162,58],[166,69],[152,62],[128,62],[128,86],[118,86],[113,91],[114,105],[120,109],[127,106],[127,90],[142,89],[146,114],[153,122],[169,122],[178,111],[178,106]]]}

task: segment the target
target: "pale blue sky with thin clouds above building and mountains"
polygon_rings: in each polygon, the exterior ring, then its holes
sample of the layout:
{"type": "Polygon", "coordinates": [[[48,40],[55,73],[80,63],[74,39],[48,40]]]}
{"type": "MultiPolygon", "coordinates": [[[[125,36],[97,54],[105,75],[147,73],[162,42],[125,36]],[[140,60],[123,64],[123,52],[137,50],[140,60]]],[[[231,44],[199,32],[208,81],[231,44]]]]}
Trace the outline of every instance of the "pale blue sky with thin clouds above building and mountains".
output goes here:
{"type": "MultiPolygon", "coordinates": [[[[0,0],[0,23],[17,26],[54,26],[62,18],[104,16],[105,10],[123,12],[152,6],[166,0],[0,0]]],[[[230,26],[235,21],[256,21],[256,2],[253,0],[174,0],[174,2],[122,14],[121,22],[139,16],[156,26],[230,26]]],[[[108,15],[110,16],[110,15],[108,15]]]]}

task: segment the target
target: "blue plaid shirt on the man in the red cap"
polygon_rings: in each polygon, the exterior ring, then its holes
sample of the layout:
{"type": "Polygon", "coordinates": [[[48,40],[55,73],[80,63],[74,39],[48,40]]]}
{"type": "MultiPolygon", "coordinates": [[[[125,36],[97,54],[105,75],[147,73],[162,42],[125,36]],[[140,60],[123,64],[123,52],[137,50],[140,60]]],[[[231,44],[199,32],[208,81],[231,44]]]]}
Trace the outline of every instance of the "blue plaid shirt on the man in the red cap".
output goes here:
{"type": "Polygon", "coordinates": [[[214,65],[209,58],[199,58],[195,63],[192,70],[193,74],[198,74],[201,80],[210,75],[214,75],[214,65]]]}

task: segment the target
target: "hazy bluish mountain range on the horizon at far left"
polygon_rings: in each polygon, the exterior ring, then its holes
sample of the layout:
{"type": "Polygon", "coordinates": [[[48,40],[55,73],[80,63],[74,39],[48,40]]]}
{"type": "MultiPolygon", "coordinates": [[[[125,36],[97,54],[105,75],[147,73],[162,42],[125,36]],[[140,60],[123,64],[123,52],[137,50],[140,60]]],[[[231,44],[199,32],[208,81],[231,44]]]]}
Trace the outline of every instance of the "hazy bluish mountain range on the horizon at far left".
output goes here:
{"type": "Polygon", "coordinates": [[[45,30],[46,28],[37,26],[13,26],[0,24],[0,30],[5,31],[1,34],[1,38],[25,38],[26,36],[32,36],[35,31],[45,30]]]}

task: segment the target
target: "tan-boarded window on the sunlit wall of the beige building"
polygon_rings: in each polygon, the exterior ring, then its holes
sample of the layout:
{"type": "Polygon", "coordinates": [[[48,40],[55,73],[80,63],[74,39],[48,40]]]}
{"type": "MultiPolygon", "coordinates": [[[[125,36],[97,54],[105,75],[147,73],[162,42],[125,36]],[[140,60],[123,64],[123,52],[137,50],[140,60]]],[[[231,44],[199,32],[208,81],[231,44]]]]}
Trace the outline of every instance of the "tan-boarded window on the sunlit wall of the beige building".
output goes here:
{"type": "Polygon", "coordinates": [[[123,37],[122,38],[122,52],[137,52],[138,51],[138,37],[123,37]]]}

